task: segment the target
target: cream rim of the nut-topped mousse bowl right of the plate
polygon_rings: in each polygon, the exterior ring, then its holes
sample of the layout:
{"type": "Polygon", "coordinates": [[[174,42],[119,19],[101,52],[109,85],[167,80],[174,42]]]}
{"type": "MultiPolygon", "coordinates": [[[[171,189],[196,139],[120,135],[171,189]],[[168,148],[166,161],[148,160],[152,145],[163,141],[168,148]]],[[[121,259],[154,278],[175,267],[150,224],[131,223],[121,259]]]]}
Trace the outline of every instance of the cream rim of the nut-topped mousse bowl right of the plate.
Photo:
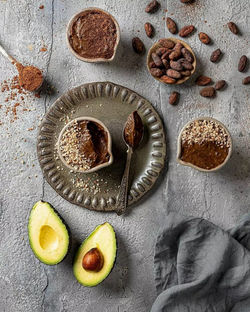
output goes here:
{"type": "Polygon", "coordinates": [[[232,155],[232,151],[233,151],[233,140],[232,140],[232,136],[231,136],[229,130],[227,129],[227,127],[222,122],[220,122],[219,120],[217,120],[217,119],[215,119],[213,117],[198,117],[198,118],[190,120],[188,123],[186,123],[184,125],[184,127],[182,127],[182,129],[181,129],[181,131],[180,131],[180,133],[178,135],[178,139],[177,139],[177,162],[179,164],[183,165],[183,166],[188,166],[188,167],[194,168],[196,170],[199,170],[201,172],[214,172],[214,171],[217,171],[217,170],[221,169],[222,167],[224,167],[226,165],[226,163],[228,162],[228,160],[230,159],[230,157],[232,155]],[[212,169],[200,168],[200,167],[198,167],[198,166],[196,166],[194,164],[191,164],[189,162],[186,162],[186,161],[183,161],[183,160],[180,159],[180,157],[181,157],[181,136],[182,136],[182,133],[192,122],[199,121],[199,120],[212,120],[214,122],[217,122],[222,128],[225,129],[225,131],[227,132],[229,141],[230,141],[230,147],[229,147],[229,150],[228,150],[227,157],[225,158],[223,163],[221,163],[220,165],[218,165],[217,167],[212,168],[212,169]]]}

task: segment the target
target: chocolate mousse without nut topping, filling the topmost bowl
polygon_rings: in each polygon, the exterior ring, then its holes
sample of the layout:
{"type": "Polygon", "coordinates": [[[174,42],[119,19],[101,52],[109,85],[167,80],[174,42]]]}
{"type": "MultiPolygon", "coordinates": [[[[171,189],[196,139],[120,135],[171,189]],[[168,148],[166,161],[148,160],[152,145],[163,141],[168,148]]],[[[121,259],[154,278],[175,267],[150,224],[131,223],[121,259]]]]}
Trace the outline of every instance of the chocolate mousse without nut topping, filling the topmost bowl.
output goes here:
{"type": "Polygon", "coordinates": [[[117,29],[112,18],[99,10],[84,11],[73,22],[69,42],[84,58],[110,59],[114,54],[117,29]]]}

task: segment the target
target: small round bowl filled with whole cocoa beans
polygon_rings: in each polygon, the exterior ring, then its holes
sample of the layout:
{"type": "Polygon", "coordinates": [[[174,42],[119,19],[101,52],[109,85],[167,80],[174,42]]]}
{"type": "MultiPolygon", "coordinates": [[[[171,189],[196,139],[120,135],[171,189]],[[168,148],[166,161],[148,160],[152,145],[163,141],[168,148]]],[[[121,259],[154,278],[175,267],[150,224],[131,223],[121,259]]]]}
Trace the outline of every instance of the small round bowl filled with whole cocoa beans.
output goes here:
{"type": "Polygon", "coordinates": [[[147,67],[156,80],[165,84],[182,84],[195,72],[196,57],[186,42],[163,38],[148,51],[147,67]]]}

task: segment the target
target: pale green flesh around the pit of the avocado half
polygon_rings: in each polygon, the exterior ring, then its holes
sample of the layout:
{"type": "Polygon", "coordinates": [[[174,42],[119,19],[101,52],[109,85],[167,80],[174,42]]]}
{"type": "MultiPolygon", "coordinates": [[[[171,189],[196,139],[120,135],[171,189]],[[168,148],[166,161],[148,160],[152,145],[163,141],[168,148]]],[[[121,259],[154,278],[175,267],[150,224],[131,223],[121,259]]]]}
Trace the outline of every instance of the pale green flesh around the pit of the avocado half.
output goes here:
{"type": "Polygon", "coordinates": [[[82,243],[77,251],[73,264],[73,272],[78,282],[92,287],[100,284],[110,273],[116,258],[116,237],[109,223],[99,225],[82,243]],[[84,255],[92,248],[98,248],[103,255],[103,267],[100,271],[86,271],[82,267],[84,255]]]}

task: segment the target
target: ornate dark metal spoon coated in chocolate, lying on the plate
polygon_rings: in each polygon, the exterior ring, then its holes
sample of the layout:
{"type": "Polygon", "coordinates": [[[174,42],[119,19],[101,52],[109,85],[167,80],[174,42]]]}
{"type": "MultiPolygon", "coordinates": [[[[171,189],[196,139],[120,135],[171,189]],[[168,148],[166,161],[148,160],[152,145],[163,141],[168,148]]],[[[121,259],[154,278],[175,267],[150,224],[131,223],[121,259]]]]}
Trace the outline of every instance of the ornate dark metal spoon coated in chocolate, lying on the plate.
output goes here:
{"type": "Polygon", "coordinates": [[[143,137],[143,123],[141,117],[134,111],[128,116],[127,122],[123,130],[123,139],[128,147],[127,161],[124,169],[120,192],[118,194],[116,213],[121,215],[126,212],[128,206],[128,182],[131,158],[134,150],[139,146],[143,137]]]}

